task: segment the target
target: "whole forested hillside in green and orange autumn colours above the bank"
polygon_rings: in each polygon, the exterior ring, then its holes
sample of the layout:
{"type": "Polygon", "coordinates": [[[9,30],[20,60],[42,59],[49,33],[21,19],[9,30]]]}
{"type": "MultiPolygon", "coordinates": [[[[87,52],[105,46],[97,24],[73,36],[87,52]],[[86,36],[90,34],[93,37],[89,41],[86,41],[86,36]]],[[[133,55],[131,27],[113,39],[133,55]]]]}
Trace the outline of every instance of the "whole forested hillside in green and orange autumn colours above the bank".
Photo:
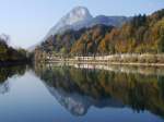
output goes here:
{"type": "Polygon", "coordinates": [[[37,47],[51,54],[112,54],[164,52],[164,10],[137,15],[121,27],[94,25],[51,35],[37,47]]]}

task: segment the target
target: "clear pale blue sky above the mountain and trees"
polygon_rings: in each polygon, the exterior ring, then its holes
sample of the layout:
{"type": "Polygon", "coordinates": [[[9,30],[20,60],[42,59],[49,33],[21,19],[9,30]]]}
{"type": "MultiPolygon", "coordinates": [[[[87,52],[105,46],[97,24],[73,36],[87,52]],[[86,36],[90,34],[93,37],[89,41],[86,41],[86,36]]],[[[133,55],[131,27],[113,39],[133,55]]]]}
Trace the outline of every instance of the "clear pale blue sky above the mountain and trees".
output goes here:
{"type": "Polygon", "coordinates": [[[0,0],[0,34],[10,35],[10,45],[31,47],[77,5],[86,7],[94,16],[131,16],[164,9],[164,0],[0,0]]]}

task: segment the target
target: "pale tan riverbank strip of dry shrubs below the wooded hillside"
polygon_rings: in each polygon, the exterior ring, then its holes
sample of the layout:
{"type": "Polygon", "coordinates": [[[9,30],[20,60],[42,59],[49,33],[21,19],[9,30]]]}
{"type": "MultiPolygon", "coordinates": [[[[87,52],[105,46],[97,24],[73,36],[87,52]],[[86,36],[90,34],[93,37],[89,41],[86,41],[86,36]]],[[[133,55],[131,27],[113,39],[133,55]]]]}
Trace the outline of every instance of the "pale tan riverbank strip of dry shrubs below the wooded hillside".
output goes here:
{"type": "Polygon", "coordinates": [[[116,65],[164,66],[164,54],[112,54],[103,57],[47,58],[47,63],[89,63],[116,65]]]}

